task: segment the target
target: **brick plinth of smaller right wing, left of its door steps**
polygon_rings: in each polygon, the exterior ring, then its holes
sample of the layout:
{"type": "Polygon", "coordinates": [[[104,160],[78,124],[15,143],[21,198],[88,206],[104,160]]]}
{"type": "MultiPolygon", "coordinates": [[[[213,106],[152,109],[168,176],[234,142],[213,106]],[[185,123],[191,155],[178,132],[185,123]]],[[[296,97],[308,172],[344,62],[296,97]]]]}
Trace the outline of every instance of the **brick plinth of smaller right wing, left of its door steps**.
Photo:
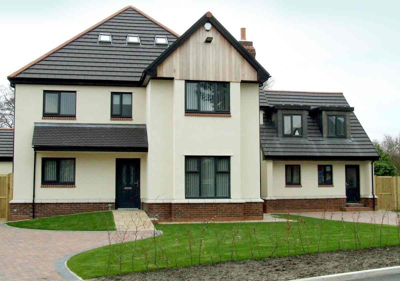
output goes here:
{"type": "Polygon", "coordinates": [[[264,213],[339,211],[345,198],[264,200],[264,213]]]}

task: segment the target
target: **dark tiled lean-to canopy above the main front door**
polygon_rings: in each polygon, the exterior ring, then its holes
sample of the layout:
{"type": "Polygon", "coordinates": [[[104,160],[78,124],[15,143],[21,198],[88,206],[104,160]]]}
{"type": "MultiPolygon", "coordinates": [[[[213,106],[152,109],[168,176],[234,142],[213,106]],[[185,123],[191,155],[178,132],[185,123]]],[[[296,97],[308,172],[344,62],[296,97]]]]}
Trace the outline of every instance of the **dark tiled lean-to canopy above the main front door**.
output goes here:
{"type": "Polygon", "coordinates": [[[145,124],[35,122],[35,151],[147,152],[145,124]]]}

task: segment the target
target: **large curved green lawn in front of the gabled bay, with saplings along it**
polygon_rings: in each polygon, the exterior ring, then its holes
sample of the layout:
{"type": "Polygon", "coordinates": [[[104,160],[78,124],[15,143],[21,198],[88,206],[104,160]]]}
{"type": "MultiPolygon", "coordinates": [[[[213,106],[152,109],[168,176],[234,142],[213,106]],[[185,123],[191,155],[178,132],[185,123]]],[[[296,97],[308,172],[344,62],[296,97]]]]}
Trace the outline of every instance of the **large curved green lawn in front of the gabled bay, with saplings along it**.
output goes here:
{"type": "Polygon", "coordinates": [[[163,234],[155,239],[83,252],[73,256],[67,265],[81,278],[89,279],[199,263],[395,246],[400,241],[399,229],[395,226],[297,216],[290,216],[290,219],[298,222],[158,224],[156,228],[163,234]],[[220,241],[219,249],[216,236],[220,241]]]}

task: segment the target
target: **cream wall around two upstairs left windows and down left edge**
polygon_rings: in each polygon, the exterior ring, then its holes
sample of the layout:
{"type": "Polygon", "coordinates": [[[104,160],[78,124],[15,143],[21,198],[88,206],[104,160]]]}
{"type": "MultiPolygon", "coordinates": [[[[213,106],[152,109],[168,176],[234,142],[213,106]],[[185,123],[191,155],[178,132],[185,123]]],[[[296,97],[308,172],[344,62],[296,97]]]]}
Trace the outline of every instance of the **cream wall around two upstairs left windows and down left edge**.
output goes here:
{"type": "MultiPolygon", "coordinates": [[[[14,200],[32,200],[34,122],[145,123],[145,88],[67,85],[15,87],[14,200]],[[42,120],[43,90],[76,91],[76,120],[42,120]],[[132,92],[133,121],[110,121],[110,92],[132,92]]],[[[51,193],[51,191],[49,191],[51,193]]]]}

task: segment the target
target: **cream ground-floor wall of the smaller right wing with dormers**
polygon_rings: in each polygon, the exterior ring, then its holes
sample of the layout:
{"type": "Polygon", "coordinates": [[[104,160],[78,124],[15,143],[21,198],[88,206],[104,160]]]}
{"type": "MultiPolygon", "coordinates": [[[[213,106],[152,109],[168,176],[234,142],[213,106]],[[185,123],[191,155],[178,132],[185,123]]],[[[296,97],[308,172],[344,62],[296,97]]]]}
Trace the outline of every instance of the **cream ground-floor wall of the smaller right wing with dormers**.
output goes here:
{"type": "Polygon", "coordinates": [[[267,183],[262,186],[262,198],[265,199],[301,199],[301,198],[345,198],[345,165],[359,165],[360,195],[371,197],[370,161],[262,161],[262,173],[267,183]],[[300,165],[301,188],[285,187],[286,164],[300,165]],[[332,165],[333,186],[318,187],[317,165],[332,165]],[[267,167],[269,169],[267,169],[267,167]],[[271,173],[272,172],[272,173],[271,173]],[[272,178],[272,179],[271,179],[272,178]],[[271,184],[269,184],[271,181],[271,184]],[[272,185],[272,187],[270,187],[272,185]]]}

